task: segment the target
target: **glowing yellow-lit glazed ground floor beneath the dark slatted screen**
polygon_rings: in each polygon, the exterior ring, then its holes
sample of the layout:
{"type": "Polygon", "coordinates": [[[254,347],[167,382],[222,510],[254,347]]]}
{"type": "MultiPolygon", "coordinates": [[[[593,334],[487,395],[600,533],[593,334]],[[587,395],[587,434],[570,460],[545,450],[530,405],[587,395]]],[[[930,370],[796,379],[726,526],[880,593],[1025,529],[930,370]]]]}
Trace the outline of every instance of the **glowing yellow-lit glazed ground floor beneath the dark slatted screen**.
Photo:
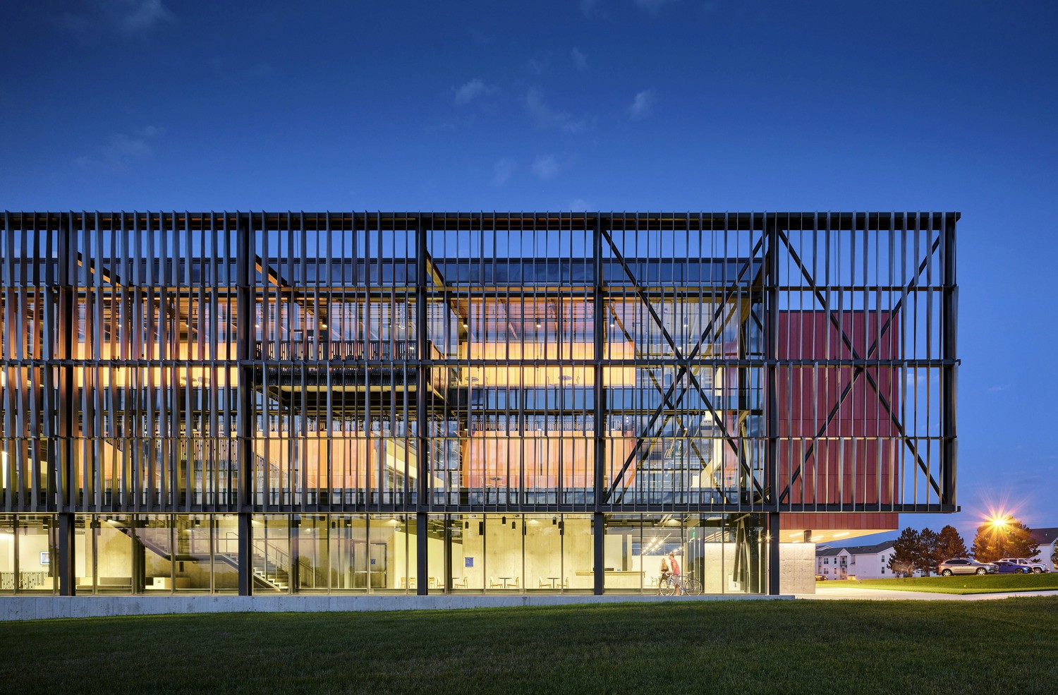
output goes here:
{"type": "Polygon", "coordinates": [[[672,553],[707,595],[766,595],[767,519],[746,513],[4,514],[0,593],[653,595],[662,559],[672,553]]]}

